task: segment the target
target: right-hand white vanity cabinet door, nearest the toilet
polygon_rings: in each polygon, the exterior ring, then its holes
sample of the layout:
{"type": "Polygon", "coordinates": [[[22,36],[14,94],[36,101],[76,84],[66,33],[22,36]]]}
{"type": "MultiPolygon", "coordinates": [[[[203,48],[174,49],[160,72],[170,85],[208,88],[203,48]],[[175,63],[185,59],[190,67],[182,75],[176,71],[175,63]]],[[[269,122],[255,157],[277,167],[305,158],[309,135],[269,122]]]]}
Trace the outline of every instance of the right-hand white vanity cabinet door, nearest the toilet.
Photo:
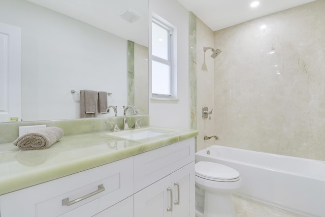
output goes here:
{"type": "Polygon", "coordinates": [[[172,173],[173,217],[195,216],[194,162],[172,173]]]}

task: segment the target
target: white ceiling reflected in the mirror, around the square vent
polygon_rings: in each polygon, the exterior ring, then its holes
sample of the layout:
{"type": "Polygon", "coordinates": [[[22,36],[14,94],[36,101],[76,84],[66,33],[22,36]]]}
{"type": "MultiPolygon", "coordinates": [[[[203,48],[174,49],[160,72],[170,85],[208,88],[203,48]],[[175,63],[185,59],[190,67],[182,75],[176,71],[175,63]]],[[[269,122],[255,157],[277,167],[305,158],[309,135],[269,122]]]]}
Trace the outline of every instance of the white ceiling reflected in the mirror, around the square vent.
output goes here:
{"type": "Polygon", "coordinates": [[[26,0],[96,26],[123,39],[148,46],[148,0],[26,0]],[[130,23],[119,15],[132,9],[141,17],[130,23]]]}

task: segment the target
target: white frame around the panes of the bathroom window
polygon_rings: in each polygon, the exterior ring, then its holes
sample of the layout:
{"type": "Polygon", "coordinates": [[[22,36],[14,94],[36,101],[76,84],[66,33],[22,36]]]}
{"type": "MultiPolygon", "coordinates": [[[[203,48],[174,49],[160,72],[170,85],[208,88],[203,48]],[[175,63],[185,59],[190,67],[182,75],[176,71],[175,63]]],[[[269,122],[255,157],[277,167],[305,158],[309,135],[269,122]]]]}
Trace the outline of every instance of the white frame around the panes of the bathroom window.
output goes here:
{"type": "MultiPolygon", "coordinates": [[[[174,63],[173,63],[173,32],[174,28],[171,27],[171,25],[167,24],[167,22],[161,21],[161,19],[157,19],[155,17],[152,17],[151,20],[152,23],[155,23],[163,28],[165,28],[168,31],[168,59],[164,59],[158,56],[155,56],[151,53],[151,61],[156,61],[157,63],[164,64],[170,67],[170,95],[166,94],[159,94],[152,92],[153,98],[165,98],[165,99],[175,99],[175,87],[174,87],[174,77],[175,77],[175,70],[174,70],[174,63]]],[[[152,69],[152,68],[151,68],[152,69]]],[[[154,72],[151,71],[151,74],[153,76],[154,72]]]]}

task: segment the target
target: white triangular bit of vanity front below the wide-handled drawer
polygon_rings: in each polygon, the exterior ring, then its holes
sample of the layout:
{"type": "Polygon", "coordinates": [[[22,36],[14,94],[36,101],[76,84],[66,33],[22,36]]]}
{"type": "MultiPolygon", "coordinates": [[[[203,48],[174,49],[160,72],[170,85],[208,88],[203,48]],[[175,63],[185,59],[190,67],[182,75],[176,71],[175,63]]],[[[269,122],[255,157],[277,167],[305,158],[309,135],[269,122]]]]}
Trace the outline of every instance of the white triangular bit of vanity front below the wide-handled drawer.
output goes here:
{"type": "Polygon", "coordinates": [[[121,202],[111,206],[108,209],[105,209],[98,214],[95,214],[93,217],[109,216],[133,217],[133,196],[122,200],[121,202]]]}

